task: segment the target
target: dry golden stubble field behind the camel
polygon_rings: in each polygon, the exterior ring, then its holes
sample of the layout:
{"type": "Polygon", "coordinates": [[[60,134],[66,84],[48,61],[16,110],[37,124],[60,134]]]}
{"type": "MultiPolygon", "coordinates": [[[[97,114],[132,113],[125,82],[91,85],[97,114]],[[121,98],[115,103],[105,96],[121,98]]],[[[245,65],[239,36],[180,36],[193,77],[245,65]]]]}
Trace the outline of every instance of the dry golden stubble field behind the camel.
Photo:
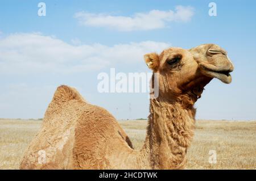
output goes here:
{"type": "MultiPolygon", "coordinates": [[[[0,119],[0,169],[18,169],[20,158],[42,121],[0,119]]],[[[140,149],[147,121],[119,121],[140,149]]],[[[256,121],[196,121],[186,169],[256,169],[256,121]],[[209,150],[217,163],[210,164],[209,150]]]]}

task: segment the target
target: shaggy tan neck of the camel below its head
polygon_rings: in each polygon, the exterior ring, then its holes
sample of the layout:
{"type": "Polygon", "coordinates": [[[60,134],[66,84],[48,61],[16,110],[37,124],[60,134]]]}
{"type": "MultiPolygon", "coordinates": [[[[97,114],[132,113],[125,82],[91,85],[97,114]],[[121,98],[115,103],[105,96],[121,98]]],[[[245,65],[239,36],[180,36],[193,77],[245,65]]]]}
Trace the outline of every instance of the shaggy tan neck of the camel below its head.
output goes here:
{"type": "Polygon", "coordinates": [[[142,152],[151,169],[182,169],[195,129],[195,109],[164,99],[150,100],[147,136],[142,152]]]}

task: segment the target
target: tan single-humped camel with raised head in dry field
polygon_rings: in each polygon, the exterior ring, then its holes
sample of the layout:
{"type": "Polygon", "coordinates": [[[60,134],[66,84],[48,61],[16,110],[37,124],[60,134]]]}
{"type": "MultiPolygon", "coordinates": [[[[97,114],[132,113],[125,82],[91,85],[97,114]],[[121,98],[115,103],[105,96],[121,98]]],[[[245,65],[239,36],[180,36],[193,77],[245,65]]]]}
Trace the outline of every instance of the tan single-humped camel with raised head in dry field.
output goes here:
{"type": "Polygon", "coordinates": [[[150,99],[140,150],[133,149],[108,111],[89,104],[72,87],[60,86],[20,169],[184,169],[195,129],[194,104],[213,78],[230,83],[234,66],[215,44],[168,48],[144,60],[158,73],[159,95],[150,99]]]}

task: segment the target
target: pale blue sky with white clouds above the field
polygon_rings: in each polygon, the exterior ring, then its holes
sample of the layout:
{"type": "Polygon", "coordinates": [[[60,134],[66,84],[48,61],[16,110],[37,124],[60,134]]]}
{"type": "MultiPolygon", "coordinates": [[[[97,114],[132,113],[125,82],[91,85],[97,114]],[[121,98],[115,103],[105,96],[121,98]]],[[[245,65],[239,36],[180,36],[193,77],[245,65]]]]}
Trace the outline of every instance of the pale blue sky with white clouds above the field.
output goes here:
{"type": "Polygon", "coordinates": [[[255,1],[42,1],[46,16],[38,16],[39,2],[1,2],[0,117],[43,117],[65,84],[117,119],[146,118],[147,94],[99,93],[97,75],[149,72],[144,53],[214,43],[234,63],[233,82],[205,87],[197,119],[255,120],[255,1]],[[217,16],[209,16],[210,2],[217,16]]]}

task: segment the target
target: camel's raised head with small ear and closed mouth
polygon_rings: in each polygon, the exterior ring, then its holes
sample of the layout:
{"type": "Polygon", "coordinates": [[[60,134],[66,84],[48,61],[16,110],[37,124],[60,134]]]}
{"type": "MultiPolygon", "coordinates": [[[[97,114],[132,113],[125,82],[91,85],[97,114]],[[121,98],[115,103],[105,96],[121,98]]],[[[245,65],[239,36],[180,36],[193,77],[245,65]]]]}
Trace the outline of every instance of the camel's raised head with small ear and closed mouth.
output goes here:
{"type": "Polygon", "coordinates": [[[224,83],[232,81],[234,66],[224,49],[203,44],[192,49],[168,48],[162,53],[148,53],[144,60],[159,76],[159,96],[170,100],[184,98],[195,102],[213,78],[224,83]]]}

